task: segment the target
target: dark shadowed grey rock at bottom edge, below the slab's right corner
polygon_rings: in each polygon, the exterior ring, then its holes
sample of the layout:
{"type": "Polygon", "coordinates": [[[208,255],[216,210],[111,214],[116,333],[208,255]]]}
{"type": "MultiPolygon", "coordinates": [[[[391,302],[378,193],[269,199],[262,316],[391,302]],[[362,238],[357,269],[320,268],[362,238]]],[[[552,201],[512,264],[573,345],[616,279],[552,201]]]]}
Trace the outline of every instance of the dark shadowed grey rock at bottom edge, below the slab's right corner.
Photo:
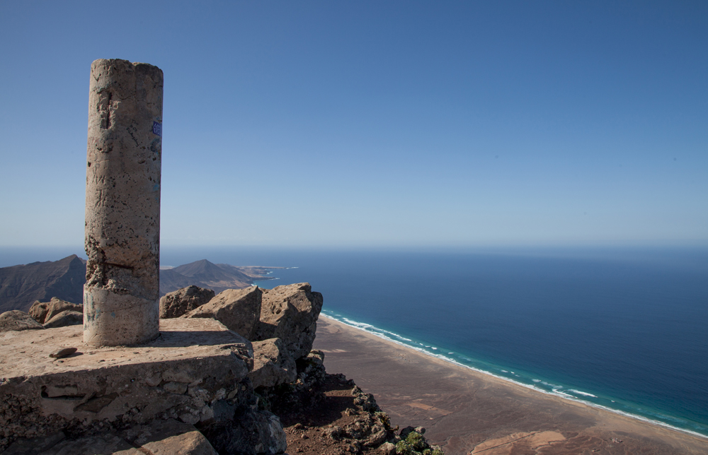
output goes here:
{"type": "Polygon", "coordinates": [[[277,415],[266,410],[237,413],[233,423],[202,430],[219,454],[282,454],[287,449],[285,431],[277,415]]]}

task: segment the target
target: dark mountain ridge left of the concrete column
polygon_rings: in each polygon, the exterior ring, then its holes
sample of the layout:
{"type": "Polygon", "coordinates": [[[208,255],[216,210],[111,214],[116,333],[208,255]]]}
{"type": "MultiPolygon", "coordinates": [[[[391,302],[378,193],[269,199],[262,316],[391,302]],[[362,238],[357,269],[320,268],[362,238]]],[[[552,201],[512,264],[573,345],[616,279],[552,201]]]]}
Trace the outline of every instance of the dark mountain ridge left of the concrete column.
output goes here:
{"type": "Polygon", "coordinates": [[[60,261],[0,268],[0,312],[27,311],[35,300],[46,302],[50,297],[83,302],[84,283],[86,261],[76,254],[60,261]]]}

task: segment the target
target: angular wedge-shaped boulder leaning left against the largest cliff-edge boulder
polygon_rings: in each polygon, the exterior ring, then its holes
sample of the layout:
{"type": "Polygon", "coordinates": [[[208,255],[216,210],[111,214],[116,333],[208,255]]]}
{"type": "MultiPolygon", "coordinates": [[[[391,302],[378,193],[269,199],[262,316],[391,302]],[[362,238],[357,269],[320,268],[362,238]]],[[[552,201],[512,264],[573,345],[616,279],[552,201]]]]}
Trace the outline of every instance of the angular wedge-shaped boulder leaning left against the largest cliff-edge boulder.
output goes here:
{"type": "MultiPolygon", "coordinates": [[[[253,340],[261,315],[261,295],[258,286],[246,289],[227,289],[205,305],[182,317],[210,317],[227,326],[246,340],[253,340]]],[[[273,338],[273,337],[270,337],[273,338]]]]}

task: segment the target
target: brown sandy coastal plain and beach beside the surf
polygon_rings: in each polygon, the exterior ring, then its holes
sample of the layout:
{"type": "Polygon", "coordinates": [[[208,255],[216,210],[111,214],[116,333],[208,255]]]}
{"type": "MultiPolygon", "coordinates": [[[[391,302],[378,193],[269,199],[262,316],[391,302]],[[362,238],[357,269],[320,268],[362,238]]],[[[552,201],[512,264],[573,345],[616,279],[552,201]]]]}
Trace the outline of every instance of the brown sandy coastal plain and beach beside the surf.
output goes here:
{"type": "Polygon", "coordinates": [[[543,394],[322,315],[329,373],[374,394],[394,425],[426,427],[447,455],[708,454],[708,438],[543,394]]]}

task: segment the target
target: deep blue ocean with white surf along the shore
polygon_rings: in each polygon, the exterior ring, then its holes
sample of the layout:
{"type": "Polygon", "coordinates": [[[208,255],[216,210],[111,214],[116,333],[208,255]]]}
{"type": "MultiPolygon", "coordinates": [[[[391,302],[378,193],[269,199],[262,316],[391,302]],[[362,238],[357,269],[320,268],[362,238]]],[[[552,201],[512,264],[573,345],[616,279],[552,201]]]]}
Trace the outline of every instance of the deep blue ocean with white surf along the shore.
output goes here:
{"type": "Polygon", "coordinates": [[[708,435],[708,249],[162,248],[164,266],[198,259],[291,267],[258,285],[308,281],[347,324],[708,435]]]}

